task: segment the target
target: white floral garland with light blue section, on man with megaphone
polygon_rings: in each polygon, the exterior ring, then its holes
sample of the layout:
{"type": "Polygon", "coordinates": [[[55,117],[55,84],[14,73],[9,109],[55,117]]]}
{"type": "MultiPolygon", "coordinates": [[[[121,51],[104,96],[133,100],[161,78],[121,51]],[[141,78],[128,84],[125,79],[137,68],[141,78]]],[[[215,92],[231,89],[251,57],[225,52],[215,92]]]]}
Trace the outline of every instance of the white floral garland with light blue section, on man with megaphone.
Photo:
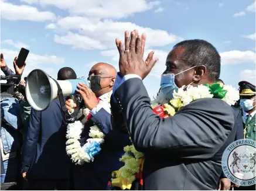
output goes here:
{"type": "MultiPolygon", "coordinates": [[[[110,109],[110,98],[112,92],[109,92],[107,97],[97,105],[97,109],[104,107],[110,109]]],[[[75,121],[67,126],[67,142],[66,152],[71,156],[71,161],[78,165],[83,165],[84,162],[93,162],[94,156],[100,152],[100,145],[104,143],[105,134],[94,124],[90,127],[89,137],[87,143],[81,147],[80,134],[84,129],[84,124],[90,120],[90,110],[83,109],[84,121],[75,121]]]]}

